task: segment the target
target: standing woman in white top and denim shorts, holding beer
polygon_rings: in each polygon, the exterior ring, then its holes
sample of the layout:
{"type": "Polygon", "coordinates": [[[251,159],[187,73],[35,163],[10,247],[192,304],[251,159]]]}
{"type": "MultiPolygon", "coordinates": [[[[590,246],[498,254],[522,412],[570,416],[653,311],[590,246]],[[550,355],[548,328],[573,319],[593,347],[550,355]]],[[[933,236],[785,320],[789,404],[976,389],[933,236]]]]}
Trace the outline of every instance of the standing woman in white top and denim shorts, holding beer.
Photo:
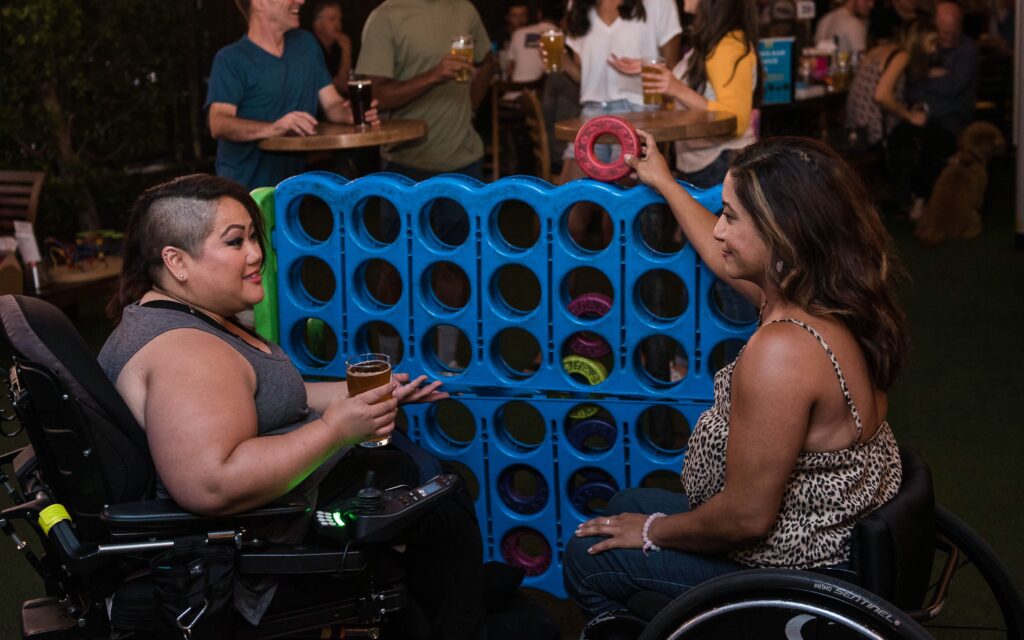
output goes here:
{"type": "MultiPolygon", "coordinates": [[[[562,61],[565,73],[580,83],[584,118],[645,109],[640,76],[617,71],[613,59],[660,55],[670,66],[679,60],[682,27],[675,0],[570,0],[566,26],[571,54],[562,61]]],[[[595,155],[607,163],[614,148],[598,144],[595,155]]],[[[569,145],[561,179],[582,176],[569,145]]]]}

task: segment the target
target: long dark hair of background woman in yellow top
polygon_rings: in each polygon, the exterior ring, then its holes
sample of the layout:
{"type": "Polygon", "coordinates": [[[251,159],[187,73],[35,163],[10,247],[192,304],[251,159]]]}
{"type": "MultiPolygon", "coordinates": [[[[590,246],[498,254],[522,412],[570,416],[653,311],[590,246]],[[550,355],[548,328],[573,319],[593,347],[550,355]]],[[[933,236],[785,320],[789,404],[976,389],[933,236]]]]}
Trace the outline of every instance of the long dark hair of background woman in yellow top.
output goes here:
{"type": "MultiPolygon", "coordinates": [[[[690,35],[690,45],[693,54],[690,56],[690,67],[684,79],[686,84],[697,92],[703,92],[708,83],[708,58],[711,57],[719,41],[732,31],[743,32],[745,57],[754,52],[757,57],[757,71],[760,74],[761,56],[758,54],[758,3],[754,0],[699,0],[697,13],[693,20],[693,32],[690,35]]],[[[739,59],[732,67],[732,76],[736,75],[739,59]]],[[[758,83],[761,87],[761,83],[758,83]]]]}

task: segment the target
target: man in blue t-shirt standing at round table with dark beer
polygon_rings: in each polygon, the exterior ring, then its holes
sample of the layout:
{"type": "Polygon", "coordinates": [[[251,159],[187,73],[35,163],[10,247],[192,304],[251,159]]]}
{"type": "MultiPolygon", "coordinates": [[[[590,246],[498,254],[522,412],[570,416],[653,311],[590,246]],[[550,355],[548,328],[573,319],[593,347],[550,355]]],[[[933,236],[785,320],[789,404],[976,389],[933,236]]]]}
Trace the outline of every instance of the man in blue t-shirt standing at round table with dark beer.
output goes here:
{"type": "MultiPolygon", "coordinates": [[[[241,40],[217,52],[206,106],[217,140],[217,175],[248,188],[275,186],[302,172],[302,154],[260,151],[275,135],[311,135],[316,106],[331,122],[352,112],[331,82],[312,34],[299,31],[298,0],[238,0],[249,24],[241,40]]],[[[367,113],[377,124],[376,103],[367,113]]]]}

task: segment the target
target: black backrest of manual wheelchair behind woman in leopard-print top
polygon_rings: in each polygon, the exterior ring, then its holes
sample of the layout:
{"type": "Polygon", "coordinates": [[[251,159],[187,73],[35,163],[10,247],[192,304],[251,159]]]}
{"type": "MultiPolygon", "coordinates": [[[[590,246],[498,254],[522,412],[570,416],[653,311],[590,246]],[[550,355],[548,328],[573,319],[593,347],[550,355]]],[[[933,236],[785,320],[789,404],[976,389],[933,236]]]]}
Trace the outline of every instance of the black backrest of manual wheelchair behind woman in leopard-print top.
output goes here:
{"type": "Polygon", "coordinates": [[[921,607],[935,557],[932,472],[918,452],[901,447],[903,480],[888,503],[857,522],[850,565],[860,585],[901,609],[921,607]]]}

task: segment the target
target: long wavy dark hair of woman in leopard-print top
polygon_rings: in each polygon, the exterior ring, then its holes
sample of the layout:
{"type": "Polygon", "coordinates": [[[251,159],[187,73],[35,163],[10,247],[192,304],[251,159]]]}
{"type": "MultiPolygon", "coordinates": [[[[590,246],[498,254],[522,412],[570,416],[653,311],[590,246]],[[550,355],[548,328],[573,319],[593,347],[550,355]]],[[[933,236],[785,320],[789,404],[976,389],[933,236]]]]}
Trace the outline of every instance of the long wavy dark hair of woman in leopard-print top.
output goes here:
{"type": "Polygon", "coordinates": [[[902,269],[860,178],[827,145],[800,137],[751,144],[729,173],[768,245],[768,284],[808,313],[842,322],[874,385],[888,389],[907,350],[895,294],[902,269]]]}

